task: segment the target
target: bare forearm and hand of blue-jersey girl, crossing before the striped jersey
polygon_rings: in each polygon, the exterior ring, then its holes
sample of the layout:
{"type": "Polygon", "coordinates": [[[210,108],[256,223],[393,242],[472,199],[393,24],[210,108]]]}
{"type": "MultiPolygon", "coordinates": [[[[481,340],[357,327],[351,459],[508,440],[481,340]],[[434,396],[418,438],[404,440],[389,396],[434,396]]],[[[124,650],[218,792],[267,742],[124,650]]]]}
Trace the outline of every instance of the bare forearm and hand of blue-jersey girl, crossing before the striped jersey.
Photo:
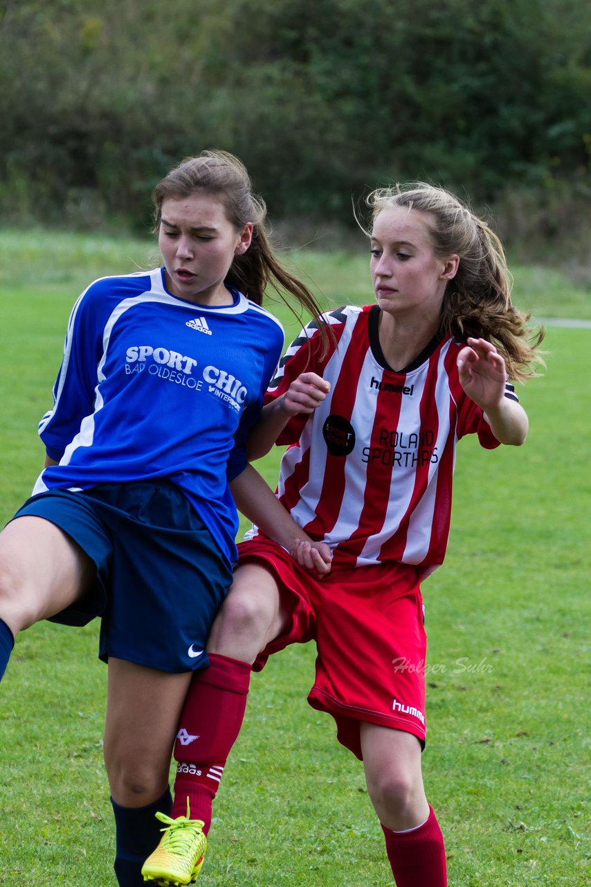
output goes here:
{"type": "Polygon", "coordinates": [[[266,536],[292,553],[307,569],[315,570],[322,576],[330,571],[329,546],[310,539],[252,465],[247,465],[244,471],[229,482],[229,486],[238,510],[266,536]],[[308,543],[304,549],[304,561],[301,560],[302,553],[298,551],[300,542],[308,543]]]}

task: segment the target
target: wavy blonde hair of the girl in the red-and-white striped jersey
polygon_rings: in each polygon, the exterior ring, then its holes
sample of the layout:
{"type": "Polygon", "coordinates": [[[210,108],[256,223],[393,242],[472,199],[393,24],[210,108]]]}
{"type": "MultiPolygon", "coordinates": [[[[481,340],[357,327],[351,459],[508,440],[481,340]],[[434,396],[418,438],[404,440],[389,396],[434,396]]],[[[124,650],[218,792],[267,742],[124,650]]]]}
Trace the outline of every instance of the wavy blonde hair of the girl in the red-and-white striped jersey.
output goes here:
{"type": "Polygon", "coordinates": [[[543,365],[537,349],[544,330],[527,326],[530,315],[512,304],[513,280],[502,243],[486,222],[454,194],[424,182],[377,188],[366,202],[374,220],[389,207],[428,213],[426,226],[435,255],[459,256],[457,273],[443,297],[439,335],[492,341],[511,379],[524,381],[535,375],[533,365],[543,365]]]}

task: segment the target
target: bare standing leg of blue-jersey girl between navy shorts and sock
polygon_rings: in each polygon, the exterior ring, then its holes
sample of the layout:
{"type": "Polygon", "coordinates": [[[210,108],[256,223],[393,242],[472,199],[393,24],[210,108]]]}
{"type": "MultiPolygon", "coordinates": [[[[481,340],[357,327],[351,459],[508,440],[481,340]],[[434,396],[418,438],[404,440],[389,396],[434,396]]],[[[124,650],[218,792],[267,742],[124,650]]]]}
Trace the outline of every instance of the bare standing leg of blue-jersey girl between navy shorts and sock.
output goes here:
{"type": "Polygon", "coordinates": [[[144,806],[162,796],[191,672],[171,674],[111,657],[105,765],[113,799],[144,806]]]}

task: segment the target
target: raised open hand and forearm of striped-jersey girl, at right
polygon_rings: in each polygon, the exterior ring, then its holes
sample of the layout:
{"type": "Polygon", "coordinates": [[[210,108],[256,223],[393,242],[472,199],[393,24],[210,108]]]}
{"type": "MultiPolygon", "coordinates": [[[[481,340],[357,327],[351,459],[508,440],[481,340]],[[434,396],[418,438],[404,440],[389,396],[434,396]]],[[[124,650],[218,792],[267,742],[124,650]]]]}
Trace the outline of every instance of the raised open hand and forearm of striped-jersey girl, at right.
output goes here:
{"type": "Polygon", "coordinates": [[[517,401],[505,397],[505,361],[492,342],[468,339],[457,366],[463,390],[482,409],[496,439],[521,446],[527,436],[527,414],[517,401]]]}

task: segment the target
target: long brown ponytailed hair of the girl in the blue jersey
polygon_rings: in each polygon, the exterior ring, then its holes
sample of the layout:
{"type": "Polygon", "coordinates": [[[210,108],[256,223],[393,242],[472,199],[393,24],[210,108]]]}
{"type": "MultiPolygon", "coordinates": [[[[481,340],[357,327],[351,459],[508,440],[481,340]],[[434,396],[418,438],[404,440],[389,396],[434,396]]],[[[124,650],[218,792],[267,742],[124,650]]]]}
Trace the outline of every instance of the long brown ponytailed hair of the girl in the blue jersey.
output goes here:
{"type": "MultiPolygon", "coordinates": [[[[171,169],[154,188],[154,230],[158,231],[162,202],[167,198],[190,197],[191,194],[211,194],[220,200],[229,222],[237,231],[245,224],[253,224],[253,239],[243,255],[236,255],[224,280],[252,302],[262,304],[268,286],[297,315],[284,293],[291,294],[314,318],[321,308],[315,296],[301,280],[286,271],[274,255],[265,225],[267,207],[261,197],[253,193],[253,185],[244,163],[226,151],[203,151],[197,157],[187,157],[171,169]]],[[[323,324],[320,324],[323,334],[323,324]]],[[[325,336],[325,334],[324,334],[325,336]]]]}

